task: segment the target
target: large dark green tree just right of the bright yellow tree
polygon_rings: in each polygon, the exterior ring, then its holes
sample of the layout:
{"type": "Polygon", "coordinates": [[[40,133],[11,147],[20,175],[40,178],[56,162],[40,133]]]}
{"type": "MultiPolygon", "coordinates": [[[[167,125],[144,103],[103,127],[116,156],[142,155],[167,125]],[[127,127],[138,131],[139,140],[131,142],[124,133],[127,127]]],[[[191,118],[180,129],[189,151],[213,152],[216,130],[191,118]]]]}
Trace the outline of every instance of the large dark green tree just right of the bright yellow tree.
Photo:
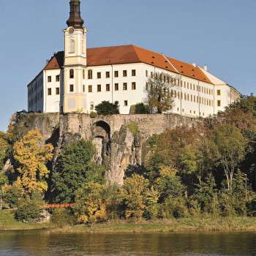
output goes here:
{"type": "Polygon", "coordinates": [[[53,194],[58,203],[72,203],[75,192],[89,181],[102,182],[104,170],[91,162],[94,146],[78,140],[61,149],[53,171],[53,194]]]}

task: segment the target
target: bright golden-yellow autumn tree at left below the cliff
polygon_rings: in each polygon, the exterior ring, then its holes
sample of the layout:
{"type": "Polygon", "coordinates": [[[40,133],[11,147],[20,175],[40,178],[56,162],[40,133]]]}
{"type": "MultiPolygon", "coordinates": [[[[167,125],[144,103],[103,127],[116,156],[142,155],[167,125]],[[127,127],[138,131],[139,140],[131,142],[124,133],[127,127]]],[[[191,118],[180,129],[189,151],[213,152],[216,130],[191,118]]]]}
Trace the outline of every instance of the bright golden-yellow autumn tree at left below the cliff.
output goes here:
{"type": "Polygon", "coordinates": [[[29,131],[14,146],[14,158],[18,163],[18,178],[15,183],[23,188],[24,195],[45,192],[50,171],[46,164],[53,158],[53,146],[42,145],[42,135],[38,129],[29,131]]]}

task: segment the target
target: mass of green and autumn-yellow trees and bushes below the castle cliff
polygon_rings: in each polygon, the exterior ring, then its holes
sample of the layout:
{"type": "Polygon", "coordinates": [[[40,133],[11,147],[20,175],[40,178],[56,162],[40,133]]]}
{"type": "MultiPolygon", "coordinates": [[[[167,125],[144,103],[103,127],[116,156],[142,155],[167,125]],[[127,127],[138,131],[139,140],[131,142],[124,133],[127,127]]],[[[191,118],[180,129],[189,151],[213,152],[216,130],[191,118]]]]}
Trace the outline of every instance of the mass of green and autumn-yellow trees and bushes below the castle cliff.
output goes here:
{"type": "Polygon", "coordinates": [[[53,147],[42,146],[37,130],[18,135],[10,126],[0,137],[8,148],[2,163],[12,159],[12,168],[0,177],[4,208],[12,208],[20,222],[37,222],[45,200],[73,203],[50,214],[52,225],[77,225],[74,230],[115,230],[123,224],[127,230],[151,225],[169,231],[256,230],[252,95],[194,127],[148,138],[143,165],[128,167],[122,187],[105,181],[89,141],[65,145],[52,165],[53,147]]]}

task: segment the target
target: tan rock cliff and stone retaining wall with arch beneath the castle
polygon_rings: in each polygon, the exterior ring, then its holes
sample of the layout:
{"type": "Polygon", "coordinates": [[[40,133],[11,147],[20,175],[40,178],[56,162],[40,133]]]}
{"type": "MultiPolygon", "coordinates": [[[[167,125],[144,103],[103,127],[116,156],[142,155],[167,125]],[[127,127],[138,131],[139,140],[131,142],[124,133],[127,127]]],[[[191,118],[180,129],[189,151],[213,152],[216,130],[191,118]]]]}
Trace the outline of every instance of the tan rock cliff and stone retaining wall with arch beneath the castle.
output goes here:
{"type": "Polygon", "coordinates": [[[39,129],[45,143],[55,147],[53,166],[61,147],[73,140],[91,140],[96,154],[95,162],[104,165],[110,184],[123,184],[124,173],[129,165],[141,165],[145,158],[146,140],[154,134],[182,125],[193,126],[197,119],[174,114],[161,115],[114,115],[91,118],[80,113],[29,113],[18,115],[13,124],[20,134],[29,129],[39,129]],[[138,125],[133,134],[127,127],[138,125]]]}

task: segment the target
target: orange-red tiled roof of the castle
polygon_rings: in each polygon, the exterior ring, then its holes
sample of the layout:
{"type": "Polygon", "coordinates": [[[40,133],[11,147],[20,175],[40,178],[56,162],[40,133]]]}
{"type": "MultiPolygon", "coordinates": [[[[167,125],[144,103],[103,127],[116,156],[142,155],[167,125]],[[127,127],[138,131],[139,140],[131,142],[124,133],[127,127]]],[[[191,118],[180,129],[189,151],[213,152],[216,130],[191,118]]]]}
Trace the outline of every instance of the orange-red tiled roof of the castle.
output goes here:
{"type": "MultiPolygon", "coordinates": [[[[101,48],[87,49],[88,67],[103,66],[110,64],[131,64],[140,63],[159,67],[176,74],[181,74],[189,78],[211,83],[211,80],[199,67],[194,67],[183,61],[178,61],[170,57],[146,50],[135,45],[121,45],[101,48]]],[[[44,70],[59,69],[64,66],[64,52],[56,53],[45,66],[44,70]]]]}

